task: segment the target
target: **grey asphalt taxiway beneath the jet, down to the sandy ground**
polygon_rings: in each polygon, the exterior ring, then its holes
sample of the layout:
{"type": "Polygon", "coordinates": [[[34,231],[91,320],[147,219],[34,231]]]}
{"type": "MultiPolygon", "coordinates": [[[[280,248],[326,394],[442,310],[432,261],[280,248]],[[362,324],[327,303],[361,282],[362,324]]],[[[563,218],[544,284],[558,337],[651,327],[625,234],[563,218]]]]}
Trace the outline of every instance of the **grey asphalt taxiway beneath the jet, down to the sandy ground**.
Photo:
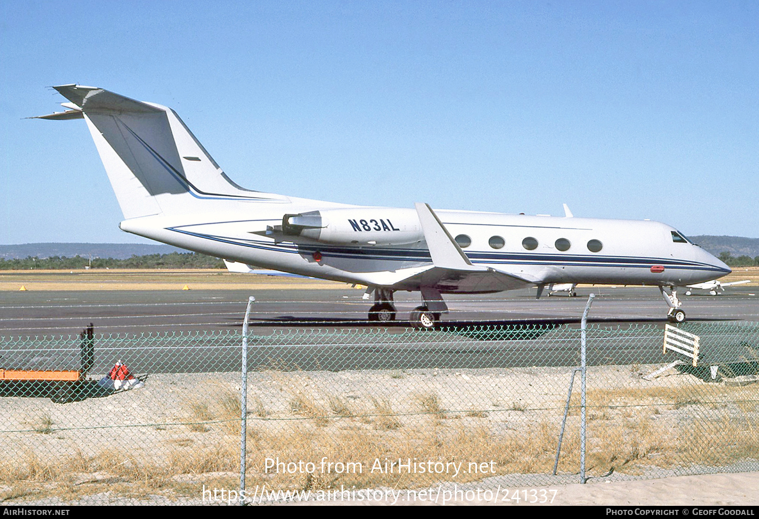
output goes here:
{"type": "MultiPolygon", "coordinates": [[[[759,322],[755,290],[684,297],[689,322],[759,322]]],[[[92,322],[96,362],[90,373],[107,372],[115,360],[128,360],[136,373],[236,371],[250,295],[256,298],[250,319],[251,369],[576,366],[575,332],[591,292],[597,298],[589,322],[609,329],[589,340],[591,365],[671,362],[662,355],[666,304],[657,288],[581,288],[578,297],[559,294],[540,300],[534,289],[449,295],[451,311],[443,316],[443,327],[432,332],[411,330],[403,320],[419,304],[418,294],[395,294],[399,320],[387,326],[368,322],[372,301],[364,300],[362,291],[331,288],[0,292],[0,367],[78,369],[77,334],[92,322]],[[638,323],[653,326],[636,328],[638,323]],[[503,332],[509,325],[518,331],[503,332]],[[496,332],[481,334],[481,326],[496,332]],[[61,339],[51,340],[55,337],[61,339]]],[[[742,328],[756,335],[755,326],[742,328]]]]}

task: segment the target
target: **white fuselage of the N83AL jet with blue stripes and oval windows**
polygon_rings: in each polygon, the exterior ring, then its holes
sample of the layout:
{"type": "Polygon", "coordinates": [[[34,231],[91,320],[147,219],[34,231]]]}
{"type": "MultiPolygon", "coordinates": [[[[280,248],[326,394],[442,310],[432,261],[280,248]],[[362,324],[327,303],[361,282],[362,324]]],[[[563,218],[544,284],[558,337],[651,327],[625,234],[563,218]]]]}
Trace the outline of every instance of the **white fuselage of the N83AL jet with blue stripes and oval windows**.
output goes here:
{"type": "MultiPolygon", "coordinates": [[[[121,228],[248,265],[363,285],[393,285],[395,276],[386,272],[430,265],[430,253],[414,209],[312,203],[251,205],[240,215],[216,219],[207,215],[148,216],[125,220],[121,228]],[[330,242],[301,236],[278,240],[262,235],[267,227],[281,224],[285,213],[319,209],[332,211],[332,215],[342,213],[340,221],[330,219],[326,226],[340,227],[344,231],[341,237],[330,242]],[[394,239],[403,243],[393,244],[394,239]],[[368,244],[367,240],[376,244],[368,244]]],[[[442,209],[436,214],[474,265],[524,275],[545,284],[691,285],[730,272],[729,267],[698,245],[673,241],[676,229],[660,222],[442,209]]],[[[418,285],[398,288],[419,289],[418,285]]],[[[450,285],[439,288],[442,293],[473,291],[450,285]]]]}

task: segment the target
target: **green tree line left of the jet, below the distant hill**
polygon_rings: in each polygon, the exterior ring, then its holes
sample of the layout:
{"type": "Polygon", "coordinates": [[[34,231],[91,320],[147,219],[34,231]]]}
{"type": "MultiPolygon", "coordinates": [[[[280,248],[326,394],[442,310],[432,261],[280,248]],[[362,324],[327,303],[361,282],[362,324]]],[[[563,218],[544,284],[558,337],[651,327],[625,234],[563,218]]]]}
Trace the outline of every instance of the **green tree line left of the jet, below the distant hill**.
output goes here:
{"type": "Polygon", "coordinates": [[[89,256],[50,256],[39,258],[27,256],[24,259],[0,258],[0,270],[27,269],[224,269],[224,262],[213,256],[198,253],[169,253],[133,255],[128,259],[92,258],[89,256]],[[91,263],[90,263],[91,262],[91,263]]]}

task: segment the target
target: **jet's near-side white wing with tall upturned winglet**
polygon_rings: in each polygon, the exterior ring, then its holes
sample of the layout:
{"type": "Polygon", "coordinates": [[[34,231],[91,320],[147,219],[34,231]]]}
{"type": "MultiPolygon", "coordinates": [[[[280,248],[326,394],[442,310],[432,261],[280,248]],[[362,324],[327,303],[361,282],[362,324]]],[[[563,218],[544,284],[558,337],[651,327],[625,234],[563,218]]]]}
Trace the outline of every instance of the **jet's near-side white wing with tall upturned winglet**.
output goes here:
{"type": "Polygon", "coordinates": [[[430,287],[442,293],[499,292],[541,283],[537,278],[473,265],[432,208],[426,203],[416,203],[415,206],[433,265],[395,280],[392,288],[418,290],[420,287],[430,287]]]}

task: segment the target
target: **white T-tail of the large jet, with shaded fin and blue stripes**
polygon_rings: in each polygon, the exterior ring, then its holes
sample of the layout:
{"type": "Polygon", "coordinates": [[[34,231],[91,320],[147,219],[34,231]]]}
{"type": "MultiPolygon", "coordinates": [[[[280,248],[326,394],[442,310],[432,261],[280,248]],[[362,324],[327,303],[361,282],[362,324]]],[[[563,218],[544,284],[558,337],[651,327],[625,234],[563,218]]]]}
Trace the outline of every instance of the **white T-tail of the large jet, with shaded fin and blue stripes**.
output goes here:
{"type": "Polygon", "coordinates": [[[200,202],[213,210],[288,201],[232,182],[172,109],[95,87],[53,88],[68,110],[38,118],[87,121],[124,219],[194,212],[200,202]]]}

